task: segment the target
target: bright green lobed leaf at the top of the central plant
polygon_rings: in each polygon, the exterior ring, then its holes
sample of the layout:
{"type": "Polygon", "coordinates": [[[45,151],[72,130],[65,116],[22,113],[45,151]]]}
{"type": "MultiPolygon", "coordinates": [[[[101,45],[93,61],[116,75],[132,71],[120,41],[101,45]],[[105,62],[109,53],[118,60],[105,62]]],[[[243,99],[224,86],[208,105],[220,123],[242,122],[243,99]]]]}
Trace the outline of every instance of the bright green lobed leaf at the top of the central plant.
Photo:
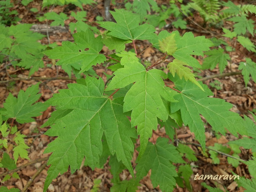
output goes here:
{"type": "Polygon", "coordinates": [[[153,26],[143,24],[139,26],[140,16],[124,9],[110,11],[116,23],[98,21],[100,27],[110,31],[109,35],[123,40],[148,40],[155,37],[153,26]]]}

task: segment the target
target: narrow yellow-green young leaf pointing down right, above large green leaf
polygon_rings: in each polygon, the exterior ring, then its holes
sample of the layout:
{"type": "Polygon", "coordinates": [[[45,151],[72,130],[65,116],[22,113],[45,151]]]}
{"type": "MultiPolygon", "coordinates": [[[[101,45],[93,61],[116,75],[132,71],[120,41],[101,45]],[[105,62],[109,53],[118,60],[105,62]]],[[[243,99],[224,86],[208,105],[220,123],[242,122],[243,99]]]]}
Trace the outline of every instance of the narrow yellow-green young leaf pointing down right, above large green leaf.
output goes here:
{"type": "Polygon", "coordinates": [[[202,86],[196,81],[195,75],[191,73],[191,69],[189,69],[188,67],[184,67],[183,65],[186,65],[186,63],[174,59],[173,62],[168,64],[167,68],[169,69],[173,76],[175,76],[175,73],[177,73],[180,79],[182,79],[183,77],[184,80],[191,81],[203,90],[202,86]]]}

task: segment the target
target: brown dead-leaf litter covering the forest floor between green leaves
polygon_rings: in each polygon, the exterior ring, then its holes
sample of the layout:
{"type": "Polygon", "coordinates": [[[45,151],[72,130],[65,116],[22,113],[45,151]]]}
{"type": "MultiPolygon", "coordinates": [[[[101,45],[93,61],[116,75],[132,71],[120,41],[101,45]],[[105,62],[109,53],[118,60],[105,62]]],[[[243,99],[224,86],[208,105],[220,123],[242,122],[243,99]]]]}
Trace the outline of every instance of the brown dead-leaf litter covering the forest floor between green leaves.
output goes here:
{"type": "MultiPolygon", "coordinates": [[[[114,10],[116,6],[123,6],[122,1],[116,1],[117,4],[115,6],[111,6],[111,10],[114,10]],[[120,3],[118,3],[120,2],[120,3]]],[[[167,4],[168,1],[157,1],[159,4],[167,4]]],[[[235,2],[235,1],[233,1],[235,2]]],[[[53,8],[53,11],[56,13],[61,13],[65,10],[67,6],[55,6],[53,8]]],[[[36,19],[35,14],[32,12],[29,12],[30,8],[38,8],[41,10],[41,1],[35,0],[32,3],[30,3],[27,7],[22,6],[20,3],[15,5],[15,10],[19,12],[19,17],[22,18],[20,23],[33,23],[33,24],[46,24],[46,22],[39,22],[36,19]]],[[[97,15],[104,15],[104,2],[101,0],[97,1],[97,5],[95,6],[85,6],[85,11],[87,11],[87,20],[89,22],[95,21],[95,17],[97,15]]],[[[76,8],[78,11],[79,8],[76,8]]],[[[75,10],[73,10],[75,11],[75,10]]],[[[42,11],[39,11],[39,14],[43,15],[43,13],[47,12],[47,8],[44,8],[42,11]]],[[[65,12],[66,14],[70,13],[70,11],[65,12]]],[[[198,25],[202,25],[203,20],[200,18],[198,14],[194,15],[193,21],[197,23],[198,25]]],[[[254,21],[256,21],[255,18],[251,18],[254,21]]],[[[73,19],[70,16],[70,19],[66,21],[66,25],[68,25],[69,22],[72,22],[73,19]]],[[[201,36],[205,35],[208,38],[211,38],[213,34],[221,34],[221,29],[216,28],[207,28],[207,31],[210,31],[210,33],[202,32],[202,28],[195,25],[194,22],[190,22],[188,20],[189,24],[188,27],[190,29],[193,29],[192,32],[194,36],[201,36]]],[[[94,24],[97,26],[97,24],[94,24]]],[[[228,25],[228,23],[224,23],[224,25],[228,25]]],[[[103,29],[100,29],[103,30],[103,29]]],[[[171,32],[173,28],[168,29],[169,32],[171,32]]],[[[181,30],[178,29],[181,34],[184,34],[185,32],[188,32],[189,30],[181,30]]],[[[73,41],[72,36],[70,32],[67,33],[54,33],[49,35],[49,40],[51,43],[57,42],[58,45],[61,45],[62,41],[73,41]]],[[[48,44],[47,37],[44,37],[44,39],[41,41],[42,44],[48,44]]],[[[149,43],[147,41],[136,41],[136,48],[137,52],[141,53],[144,49],[146,49],[149,46],[149,43]]],[[[234,44],[234,47],[236,44],[234,44]]],[[[127,49],[132,49],[133,47],[127,47],[127,49]]],[[[248,51],[242,47],[235,47],[236,50],[240,50],[240,52],[233,52],[231,55],[231,60],[228,64],[228,66],[225,68],[224,73],[227,72],[234,72],[238,71],[238,64],[241,61],[245,61],[245,55],[248,54],[248,51]],[[243,53],[243,54],[241,54],[243,53]]],[[[107,52],[108,49],[106,47],[103,47],[102,54],[108,55],[110,53],[107,52]]],[[[141,60],[148,61],[150,63],[154,63],[159,58],[163,56],[163,53],[157,51],[153,48],[148,48],[143,54],[141,54],[141,60]]],[[[252,57],[251,57],[252,58],[252,57]]],[[[202,57],[196,57],[200,63],[202,63],[202,57]]],[[[255,60],[255,58],[254,58],[255,60]]],[[[56,66],[53,66],[50,64],[50,60],[45,60],[45,68],[39,69],[33,77],[68,77],[68,75],[61,69],[60,66],[58,66],[58,70],[56,66]]],[[[97,65],[94,67],[96,73],[98,76],[102,77],[103,80],[106,82],[107,77],[105,74],[111,75],[112,72],[108,69],[106,69],[108,63],[105,63],[104,65],[97,65]]],[[[161,68],[166,66],[167,63],[161,63],[156,68],[161,68]]],[[[16,75],[17,78],[23,78],[28,77],[28,70],[22,70],[22,69],[15,69],[13,67],[10,67],[7,69],[8,74],[16,75]]],[[[219,70],[218,68],[214,70],[204,70],[198,73],[198,76],[206,77],[209,75],[218,74],[219,70]]],[[[0,66],[0,77],[1,80],[10,80],[11,78],[7,75],[5,68],[0,66]]],[[[3,107],[3,103],[5,99],[7,98],[9,92],[11,92],[14,96],[17,96],[19,90],[26,90],[27,87],[31,86],[32,84],[37,83],[38,80],[21,80],[21,81],[15,81],[15,82],[8,82],[8,83],[0,83],[0,107],[3,107]]],[[[58,93],[59,89],[67,89],[68,83],[75,83],[74,80],[63,80],[63,79],[57,79],[57,80],[44,80],[40,81],[40,93],[42,94],[40,101],[44,102],[52,97],[54,93],[58,93]]],[[[234,105],[232,108],[232,111],[237,112],[241,114],[245,114],[249,117],[251,115],[249,114],[249,111],[252,111],[256,108],[256,84],[252,81],[249,82],[247,88],[245,88],[244,81],[241,75],[235,75],[235,76],[227,76],[227,77],[221,77],[221,78],[212,78],[209,80],[206,80],[203,82],[204,84],[207,84],[209,88],[213,91],[214,97],[216,98],[222,98],[234,105]],[[217,90],[216,88],[211,87],[209,84],[211,82],[214,82],[214,80],[218,80],[220,82],[220,90],[217,90]]],[[[27,144],[30,146],[29,151],[29,158],[31,160],[47,157],[50,154],[43,154],[43,151],[47,147],[47,144],[52,142],[54,137],[49,137],[46,135],[42,135],[42,132],[45,132],[49,129],[49,127],[41,128],[41,125],[47,121],[47,119],[50,117],[50,114],[52,111],[54,111],[54,107],[49,107],[43,114],[39,117],[35,118],[35,122],[32,123],[26,123],[26,124],[19,124],[15,122],[17,125],[19,131],[21,131],[22,134],[28,136],[26,138],[27,144]],[[32,136],[32,137],[30,137],[32,136]]],[[[205,119],[204,119],[205,120],[205,119]]],[[[206,122],[206,121],[205,121],[206,122]]],[[[157,129],[156,131],[153,131],[153,137],[151,140],[156,140],[157,137],[167,137],[164,129],[157,129]]],[[[183,126],[182,128],[177,130],[177,138],[180,139],[182,142],[186,143],[197,143],[195,140],[194,133],[191,133],[189,128],[187,126],[183,126]]],[[[227,133],[226,136],[221,136],[220,138],[216,138],[216,135],[211,130],[210,126],[206,128],[206,146],[213,146],[215,143],[219,144],[226,144],[230,140],[234,140],[235,137],[229,133],[227,133]]],[[[220,174],[231,174],[231,171],[236,171],[240,176],[245,176],[246,178],[251,178],[250,174],[248,172],[247,166],[243,163],[240,163],[237,168],[234,168],[227,162],[227,157],[219,155],[220,158],[220,164],[215,165],[212,163],[211,158],[205,157],[202,154],[202,151],[200,148],[188,145],[190,148],[192,148],[195,153],[196,157],[198,158],[198,161],[193,163],[193,172],[194,174],[212,174],[212,175],[220,175],[220,174]]],[[[248,159],[249,154],[251,153],[250,150],[242,150],[242,156],[240,158],[242,159],[248,159]]],[[[135,157],[137,154],[134,154],[133,159],[133,165],[135,165],[135,157]]],[[[17,167],[24,165],[26,163],[30,162],[30,160],[27,159],[19,159],[17,162],[17,167]]],[[[13,179],[10,181],[6,181],[4,186],[8,187],[16,187],[19,189],[22,189],[24,185],[28,182],[28,180],[33,176],[33,174],[38,170],[38,168],[42,165],[42,162],[35,163],[33,165],[27,166],[21,170],[18,171],[19,176],[21,179],[13,179]]],[[[38,177],[35,178],[33,184],[29,187],[28,191],[31,192],[39,192],[42,191],[44,181],[47,175],[47,170],[44,169],[38,177]]],[[[5,171],[4,169],[0,169],[0,173],[5,171]]],[[[151,184],[151,181],[149,179],[150,172],[148,173],[147,177],[145,177],[143,180],[141,180],[138,191],[161,191],[159,187],[154,188],[151,184]]],[[[124,170],[120,174],[121,180],[123,179],[129,179],[131,178],[131,175],[127,170],[124,170]]],[[[193,177],[194,178],[194,177],[193,177]]],[[[201,182],[206,182],[207,184],[220,188],[222,190],[228,189],[228,191],[235,191],[236,189],[236,183],[229,181],[229,180],[194,180],[191,178],[191,186],[194,191],[202,191],[202,186],[200,185],[201,182]]],[[[100,183],[100,190],[101,191],[109,191],[109,188],[112,186],[111,179],[112,175],[110,173],[110,167],[108,166],[108,163],[105,164],[103,169],[96,168],[94,171],[92,171],[89,167],[81,166],[81,168],[76,171],[73,175],[67,171],[66,173],[62,174],[61,176],[57,177],[53,180],[52,184],[49,186],[48,191],[49,192],[75,192],[75,191],[90,191],[90,189],[94,185],[95,179],[101,179],[100,183]]],[[[184,188],[178,187],[175,189],[175,191],[187,191],[184,188]]],[[[243,191],[241,188],[240,191],[243,191]]]]}

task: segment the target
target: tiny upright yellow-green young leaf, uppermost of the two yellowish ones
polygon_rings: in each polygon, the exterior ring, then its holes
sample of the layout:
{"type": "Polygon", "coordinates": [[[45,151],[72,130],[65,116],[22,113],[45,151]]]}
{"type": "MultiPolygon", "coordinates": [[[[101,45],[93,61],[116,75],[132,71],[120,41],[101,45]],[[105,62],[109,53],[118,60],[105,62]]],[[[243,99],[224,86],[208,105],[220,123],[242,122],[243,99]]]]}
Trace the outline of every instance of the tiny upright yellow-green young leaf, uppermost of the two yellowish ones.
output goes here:
{"type": "Polygon", "coordinates": [[[159,41],[159,47],[160,50],[163,53],[167,53],[168,55],[173,55],[173,53],[176,51],[176,41],[174,39],[174,36],[176,34],[172,33],[170,36],[166,37],[162,41],[159,41]]]}

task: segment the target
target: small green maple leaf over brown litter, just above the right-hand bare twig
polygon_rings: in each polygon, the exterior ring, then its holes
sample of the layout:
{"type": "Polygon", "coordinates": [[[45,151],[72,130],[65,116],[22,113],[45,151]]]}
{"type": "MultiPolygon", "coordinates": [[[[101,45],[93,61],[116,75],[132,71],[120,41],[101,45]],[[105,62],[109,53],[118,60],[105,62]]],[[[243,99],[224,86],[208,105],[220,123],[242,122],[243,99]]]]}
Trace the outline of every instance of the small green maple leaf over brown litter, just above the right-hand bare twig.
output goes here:
{"type": "Polygon", "coordinates": [[[219,64],[220,73],[223,73],[225,67],[228,65],[230,56],[227,53],[223,53],[224,49],[213,49],[206,53],[209,57],[204,58],[202,69],[214,69],[219,64]]]}

